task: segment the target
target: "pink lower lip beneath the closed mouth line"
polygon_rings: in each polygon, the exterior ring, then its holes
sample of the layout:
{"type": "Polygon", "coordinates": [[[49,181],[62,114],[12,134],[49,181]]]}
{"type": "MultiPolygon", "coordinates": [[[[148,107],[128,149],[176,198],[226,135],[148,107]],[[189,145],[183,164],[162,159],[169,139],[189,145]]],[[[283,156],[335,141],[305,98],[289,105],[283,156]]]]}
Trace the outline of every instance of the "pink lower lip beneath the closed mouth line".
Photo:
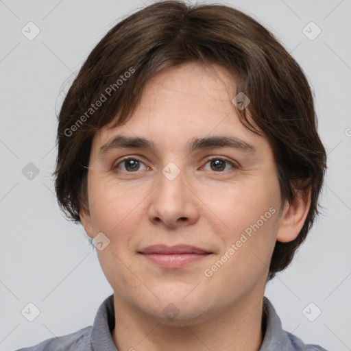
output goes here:
{"type": "Polygon", "coordinates": [[[201,260],[208,254],[143,254],[156,265],[166,268],[178,268],[201,260]]]}

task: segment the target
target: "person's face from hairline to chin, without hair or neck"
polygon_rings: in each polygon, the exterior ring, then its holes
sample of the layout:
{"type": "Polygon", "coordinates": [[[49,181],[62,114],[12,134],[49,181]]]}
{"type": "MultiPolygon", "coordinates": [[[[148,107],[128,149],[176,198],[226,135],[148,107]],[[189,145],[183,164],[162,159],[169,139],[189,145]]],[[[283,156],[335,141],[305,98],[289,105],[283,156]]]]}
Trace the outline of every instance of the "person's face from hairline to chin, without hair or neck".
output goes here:
{"type": "Polygon", "coordinates": [[[220,66],[173,67],[148,82],[125,124],[95,134],[82,223],[90,237],[103,233],[101,268],[115,299],[139,314],[205,320],[263,294],[280,188],[267,139],[239,121],[234,88],[220,66]],[[104,146],[115,136],[152,147],[104,146]],[[150,245],[203,254],[142,254],[150,245]]]}

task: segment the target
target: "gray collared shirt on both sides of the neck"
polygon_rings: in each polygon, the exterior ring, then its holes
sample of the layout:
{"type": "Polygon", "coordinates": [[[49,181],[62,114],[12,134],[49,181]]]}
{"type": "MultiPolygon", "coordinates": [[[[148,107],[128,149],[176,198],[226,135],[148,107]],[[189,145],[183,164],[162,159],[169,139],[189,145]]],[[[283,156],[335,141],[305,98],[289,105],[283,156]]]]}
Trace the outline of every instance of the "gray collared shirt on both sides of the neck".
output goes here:
{"type": "MultiPolygon", "coordinates": [[[[99,307],[93,326],[17,351],[118,351],[111,336],[114,322],[112,294],[99,307]]],[[[317,345],[306,345],[295,335],[282,330],[280,319],[266,297],[263,298],[263,326],[265,337],[259,351],[327,351],[317,345]]]]}

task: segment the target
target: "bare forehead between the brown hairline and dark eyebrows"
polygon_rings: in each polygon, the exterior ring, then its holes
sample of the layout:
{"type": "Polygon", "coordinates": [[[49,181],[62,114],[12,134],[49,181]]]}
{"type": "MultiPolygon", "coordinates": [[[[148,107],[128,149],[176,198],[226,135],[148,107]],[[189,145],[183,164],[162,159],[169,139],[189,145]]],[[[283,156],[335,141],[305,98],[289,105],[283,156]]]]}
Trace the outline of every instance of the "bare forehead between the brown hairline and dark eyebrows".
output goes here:
{"type": "Polygon", "coordinates": [[[156,74],[143,91],[141,102],[123,125],[101,128],[93,147],[101,147],[112,136],[147,136],[173,145],[210,134],[235,134],[245,138],[256,134],[245,128],[232,99],[234,77],[221,66],[206,67],[196,62],[174,66],[156,74]],[[251,135],[253,134],[253,135],[251,135]]]}

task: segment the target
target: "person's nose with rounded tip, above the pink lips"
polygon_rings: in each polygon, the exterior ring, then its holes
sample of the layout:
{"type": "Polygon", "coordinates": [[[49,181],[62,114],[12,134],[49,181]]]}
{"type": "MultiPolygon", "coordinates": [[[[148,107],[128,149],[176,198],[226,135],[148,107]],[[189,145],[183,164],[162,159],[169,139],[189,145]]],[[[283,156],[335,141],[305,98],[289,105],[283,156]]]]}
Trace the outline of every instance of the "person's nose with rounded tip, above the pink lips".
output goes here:
{"type": "Polygon", "coordinates": [[[199,219],[198,199],[184,182],[183,172],[174,178],[160,173],[160,182],[152,192],[149,219],[169,228],[189,226],[199,219]]]}

